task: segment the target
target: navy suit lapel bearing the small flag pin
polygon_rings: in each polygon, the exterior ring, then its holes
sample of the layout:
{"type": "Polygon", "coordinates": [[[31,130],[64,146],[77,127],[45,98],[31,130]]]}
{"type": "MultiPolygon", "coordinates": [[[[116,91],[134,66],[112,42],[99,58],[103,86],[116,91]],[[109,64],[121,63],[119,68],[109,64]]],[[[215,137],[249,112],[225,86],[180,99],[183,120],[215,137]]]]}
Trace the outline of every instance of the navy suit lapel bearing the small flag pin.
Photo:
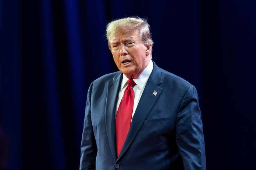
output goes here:
{"type": "Polygon", "coordinates": [[[147,80],[147,84],[145,86],[145,89],[143,90],[141,99],[139,100],[134,117],[132,118],[131,127],[129,129],[127,138],[125,139],[124,146],[122,147],[118,159],[120,159],[124,152],[128,149],[139,129],[141,128],[142,123],[149,114],[151,108],[154,106],[154,103],[156,103],[156,100],[161,95],[163,89],[160,88],[158,85],[162,82],[163,81],[161,77],[161,72],[154,63],[153,71],[150,74],[149,79],[147,80]],[[157,92],[157,94],[154,93],[156,95],[153,94],[154,91],[157,92]]]}

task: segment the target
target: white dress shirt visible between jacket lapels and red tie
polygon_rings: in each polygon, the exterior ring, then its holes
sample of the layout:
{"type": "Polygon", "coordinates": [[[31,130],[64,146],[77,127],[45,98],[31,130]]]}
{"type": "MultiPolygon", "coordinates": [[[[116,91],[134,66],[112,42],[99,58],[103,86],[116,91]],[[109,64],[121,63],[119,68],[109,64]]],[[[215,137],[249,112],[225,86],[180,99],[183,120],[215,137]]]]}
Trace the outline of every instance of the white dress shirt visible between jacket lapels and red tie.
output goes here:
{"type": "MultiPolygon", "coordinates": [[[[150,60],[149,64],[147,65],[147,67],[142,71],[142,73],[139,75],[139,77],[137,77],[136,79],[133,79],[134,82],[136,83],[135,86],[133,86],[133,90],[134,90],[134,107],[132,110],[132,117],[134,116],[135,110],[138,106],[139,103],[139,99],[141,99],[141,95],[143,93],[143,90],[146,86],[147,80],[149,79],[149,75],[151,74],[152,70],[153,70],[153,62],[152,60],[150,60]]],[[[129,79],[123,74],[123,79],[122,79],[122,83],[120,86],[120,90],[119,90],[119,94],[118,94],[118,99],[117,99],[117,107],[115,110],[115,115],[117,115],[117,110],[119,107],[119,104],[122,100],[122,96],[124,96],[124,90],[127,87],[127,81],[129,79]]]]}

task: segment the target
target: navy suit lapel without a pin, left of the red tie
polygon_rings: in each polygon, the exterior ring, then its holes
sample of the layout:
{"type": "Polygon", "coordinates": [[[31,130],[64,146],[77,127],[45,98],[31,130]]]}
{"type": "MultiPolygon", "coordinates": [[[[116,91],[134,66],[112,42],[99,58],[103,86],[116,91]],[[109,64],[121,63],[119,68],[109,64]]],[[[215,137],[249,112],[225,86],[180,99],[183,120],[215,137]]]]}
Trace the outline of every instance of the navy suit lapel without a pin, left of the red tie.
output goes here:
{"type": "Polygon", "coordinates": [[[119,73],[113,78],[113,82],[108,85],[107,99],[106,99],[106,111],[105,122],[107,129],[107,137],[109,139],[110,149],[114,160],[117,159],[117,151],[115,144],[115,108],[117,103],[117,96],[122,81],[122,74],[119,73]]]}

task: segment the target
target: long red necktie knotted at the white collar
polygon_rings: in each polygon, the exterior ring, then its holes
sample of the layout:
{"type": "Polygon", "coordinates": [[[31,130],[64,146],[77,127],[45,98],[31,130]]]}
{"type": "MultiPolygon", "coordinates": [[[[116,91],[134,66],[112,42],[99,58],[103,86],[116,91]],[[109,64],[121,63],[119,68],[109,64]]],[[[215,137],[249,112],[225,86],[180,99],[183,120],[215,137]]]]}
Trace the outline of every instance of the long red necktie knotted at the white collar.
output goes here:
{"type": "Polygon", "coordinates": [[[132,89],[136,83],[129,79],[127,88],[124,91],[124,96],[120,102],[115,118],[115,140],[117,145],[117,157],[119,156],[125,138],[129,132],[132,120],[132,110],[134,106],[134,90],[132,89]]]}

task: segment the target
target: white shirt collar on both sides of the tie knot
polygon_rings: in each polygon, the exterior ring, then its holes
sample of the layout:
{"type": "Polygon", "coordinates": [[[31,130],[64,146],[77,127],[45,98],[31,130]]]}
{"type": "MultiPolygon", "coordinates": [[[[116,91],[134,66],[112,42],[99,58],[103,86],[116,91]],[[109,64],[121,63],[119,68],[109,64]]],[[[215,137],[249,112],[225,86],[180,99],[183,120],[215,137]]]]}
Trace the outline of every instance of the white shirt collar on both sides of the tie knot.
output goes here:
{"type": "MultiPolygon", "coordinates": [[[[149,75],[151,74],[151,72],[153,70],[153,67],[154,67],[154,64],[153,64],[152,60],[150,60],[149,64],[147,64],[147,67],[142,71],[142,73],[139,75],[139,77],[134,79],[134,82],[136,83],[136,85],[138,86],[138,88],[140,90],[143,90],[145,88],[147,79],[149,78],[149,75]]],[[[120,91],[122,91],[126,88],[128,80],[129,80],[129,78],[127,78],[123,74],[123,79],[122,79],[120,91]]]]}

